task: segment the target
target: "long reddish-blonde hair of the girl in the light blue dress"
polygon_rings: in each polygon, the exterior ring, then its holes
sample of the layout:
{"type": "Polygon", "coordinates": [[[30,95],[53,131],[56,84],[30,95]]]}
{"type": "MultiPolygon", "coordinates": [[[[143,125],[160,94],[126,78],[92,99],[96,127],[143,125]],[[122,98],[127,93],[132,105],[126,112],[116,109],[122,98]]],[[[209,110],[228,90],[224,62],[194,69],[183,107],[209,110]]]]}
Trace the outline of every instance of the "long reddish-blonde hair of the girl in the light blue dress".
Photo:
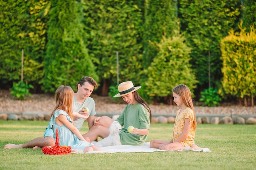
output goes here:
{"type": "Polygon", "coordinates": [[[59,86],[55,92],[56,106],[53,109],[51,116],[54,115],[56,110],[64,110],[70,116],[74,125],[74,115],[72,108],[73,95],[74,91],[70,86],[59,86]]]}

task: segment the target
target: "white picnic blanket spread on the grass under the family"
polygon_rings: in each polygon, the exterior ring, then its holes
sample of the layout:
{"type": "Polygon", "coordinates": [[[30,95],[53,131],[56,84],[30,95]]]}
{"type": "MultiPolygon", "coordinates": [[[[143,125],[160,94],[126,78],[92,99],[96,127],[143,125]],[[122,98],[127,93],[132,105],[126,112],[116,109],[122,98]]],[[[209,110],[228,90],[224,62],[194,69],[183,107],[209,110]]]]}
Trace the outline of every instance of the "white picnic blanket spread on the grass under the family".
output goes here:
{"type": "MultiPolygon", "coordinates": [[[[191,148],[187,146],[185,149],[182,150],[172,150],[172,151],[195,151],[195,152],[211,152],[209,148],[201,148],[198,150],[194,150],[194,148],[191,148]]],[[[171,150],[159,150],[155,148],[149,147],[149,142],[144,143],[143,146],[131,146],[131,145],[117,145],[117,146],[107,146],[101,148],[101,151],[90,151],[86,153],[128,153],[128,152],[156,152],[156,151],[171,151],[171,150]]],[[[72,150],[71,153],[84,153],[82,150],[72,150]]]]}

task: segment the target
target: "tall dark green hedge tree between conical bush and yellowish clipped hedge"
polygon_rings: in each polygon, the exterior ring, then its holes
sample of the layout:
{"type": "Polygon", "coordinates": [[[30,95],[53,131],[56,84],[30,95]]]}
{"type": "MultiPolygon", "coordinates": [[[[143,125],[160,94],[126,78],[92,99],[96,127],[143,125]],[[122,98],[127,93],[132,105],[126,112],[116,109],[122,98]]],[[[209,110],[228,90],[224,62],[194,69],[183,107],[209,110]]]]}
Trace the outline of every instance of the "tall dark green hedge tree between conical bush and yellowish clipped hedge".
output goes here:
{"type": "Polygon", "coordinates": [[[191,46],[191,64],[200,86],[208,88],[209,67],[211,86],[222,77],[220,41],[241,18],[241,0],[179,0],[178,17],[181,32],[191,46]],[[209,60],[210,58],[210,60],[209,60]]]}

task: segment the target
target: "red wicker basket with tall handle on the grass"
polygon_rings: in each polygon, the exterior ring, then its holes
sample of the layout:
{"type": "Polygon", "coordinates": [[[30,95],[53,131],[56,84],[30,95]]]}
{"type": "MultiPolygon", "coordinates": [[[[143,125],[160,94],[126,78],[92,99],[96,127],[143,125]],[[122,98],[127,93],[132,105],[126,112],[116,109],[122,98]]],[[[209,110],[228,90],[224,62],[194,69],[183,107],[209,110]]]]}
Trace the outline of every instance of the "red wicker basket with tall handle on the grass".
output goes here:
{"type": "Polygon", "coordinates": [[[42,152],[49,155],[66,155],[71,152],[70,146],[59,146],[58,129],[56,129],[56,146],[44,146],[42,152]]]}

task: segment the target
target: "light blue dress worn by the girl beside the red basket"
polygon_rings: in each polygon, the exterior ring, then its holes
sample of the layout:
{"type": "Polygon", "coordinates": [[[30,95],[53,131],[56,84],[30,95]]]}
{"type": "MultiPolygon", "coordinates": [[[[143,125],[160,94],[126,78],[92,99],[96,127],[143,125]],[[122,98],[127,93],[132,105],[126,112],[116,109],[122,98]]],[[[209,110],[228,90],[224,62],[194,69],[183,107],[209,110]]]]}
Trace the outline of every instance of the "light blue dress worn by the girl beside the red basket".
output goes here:
{"type": "MultiPolygon", "coordinates": [[[[54,140],[56,140],[56,133],[55,130],[58,129],[58,136],[59,136],[59,146],[71,146],[72,149],[81,149],[84,150],[86,146],[92,146],[92,143],[82,141],[64,124],[62,126],[58,125],[55,121],[56,117],[60,114],[67,117],[67,120],[72,123],[72,119],[64,110],[56,110],[54,112],[54,119],[53,119],[53,127],[54,127],[54,140]]],[[[51,118],[52,119],[52,118],[51,118]]]]}

